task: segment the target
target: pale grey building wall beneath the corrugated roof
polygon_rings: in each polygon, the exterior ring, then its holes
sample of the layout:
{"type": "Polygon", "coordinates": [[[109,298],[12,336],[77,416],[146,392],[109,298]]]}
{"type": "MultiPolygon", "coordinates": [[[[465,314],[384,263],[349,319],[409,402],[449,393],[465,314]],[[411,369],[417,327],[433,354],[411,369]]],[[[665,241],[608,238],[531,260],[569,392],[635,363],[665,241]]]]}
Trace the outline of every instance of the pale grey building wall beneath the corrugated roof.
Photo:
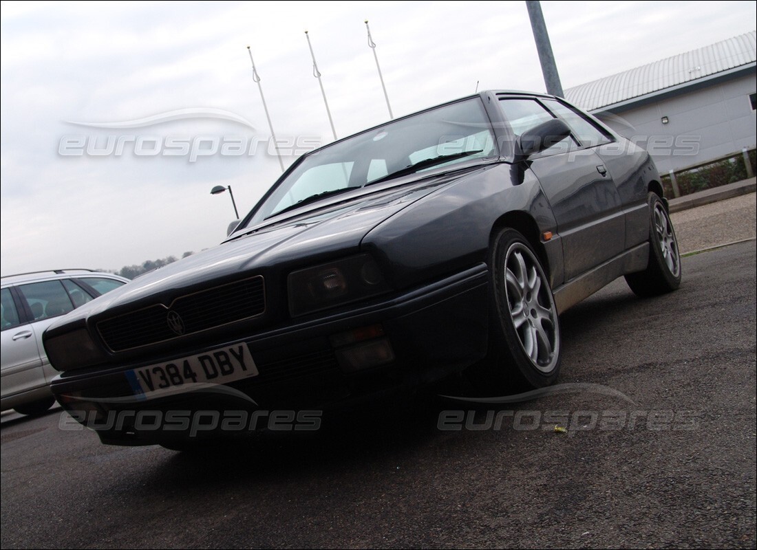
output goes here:
{"type": "Polygon", "coordinates": [[[661,173],[755,148],[755,110],[749,95],[757,74],[662,97],[639,107],[597,113],[615,132],[642,144],[661,173]],[[668,123],[662,123],[668,117],[668,123]]]}

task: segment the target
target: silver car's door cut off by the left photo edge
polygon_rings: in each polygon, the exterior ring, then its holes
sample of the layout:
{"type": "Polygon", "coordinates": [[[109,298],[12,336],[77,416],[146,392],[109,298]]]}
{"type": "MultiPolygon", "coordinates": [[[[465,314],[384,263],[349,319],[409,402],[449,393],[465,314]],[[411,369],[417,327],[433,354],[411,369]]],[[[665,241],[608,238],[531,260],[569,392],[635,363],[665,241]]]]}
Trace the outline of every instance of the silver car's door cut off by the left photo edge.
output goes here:
{"type": "Polygon", "coordinates": [[[45,380],[38,337],[11,287],[2,289],[2,398],[33,390],[45,380]]]}

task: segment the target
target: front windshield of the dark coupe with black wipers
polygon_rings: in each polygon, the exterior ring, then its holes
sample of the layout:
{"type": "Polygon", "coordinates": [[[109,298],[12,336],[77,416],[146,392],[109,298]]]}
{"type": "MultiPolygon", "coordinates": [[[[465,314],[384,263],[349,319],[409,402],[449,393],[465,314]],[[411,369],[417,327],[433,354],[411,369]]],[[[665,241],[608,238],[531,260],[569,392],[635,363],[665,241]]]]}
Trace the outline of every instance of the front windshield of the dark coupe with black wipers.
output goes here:
{"type": "Polygon", "coordinates": [[[372,183],[493,157],[494,143],[479,98],[396,120],[303,157],[245,225],[372,183]]]}

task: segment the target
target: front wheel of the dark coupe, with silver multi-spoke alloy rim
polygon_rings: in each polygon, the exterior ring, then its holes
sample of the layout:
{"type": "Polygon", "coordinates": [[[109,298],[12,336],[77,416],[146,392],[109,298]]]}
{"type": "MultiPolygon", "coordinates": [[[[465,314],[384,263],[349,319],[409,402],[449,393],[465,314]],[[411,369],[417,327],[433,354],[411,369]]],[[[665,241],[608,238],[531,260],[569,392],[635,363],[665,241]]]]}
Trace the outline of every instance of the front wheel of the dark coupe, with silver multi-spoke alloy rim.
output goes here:
{"type": "Polygon", "coordinates": [[[559,374],[560,328],[550,282],[528,240],[512,228],[490,256],[488,358],[472,369],[476,390],[510,393],[545,387],[559,374]]]}

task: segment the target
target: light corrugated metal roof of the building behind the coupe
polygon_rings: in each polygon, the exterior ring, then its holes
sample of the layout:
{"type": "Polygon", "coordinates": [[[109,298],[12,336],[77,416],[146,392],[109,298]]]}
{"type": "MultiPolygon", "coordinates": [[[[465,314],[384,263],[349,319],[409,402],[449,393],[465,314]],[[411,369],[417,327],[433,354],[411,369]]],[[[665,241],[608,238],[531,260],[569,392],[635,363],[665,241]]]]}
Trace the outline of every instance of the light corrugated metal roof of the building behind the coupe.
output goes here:
{"type": "Polygon", "coordinates": [[[594,110],[757,61],[757,32],[716,42],[565,90],[565,99],[594,110]]]}

